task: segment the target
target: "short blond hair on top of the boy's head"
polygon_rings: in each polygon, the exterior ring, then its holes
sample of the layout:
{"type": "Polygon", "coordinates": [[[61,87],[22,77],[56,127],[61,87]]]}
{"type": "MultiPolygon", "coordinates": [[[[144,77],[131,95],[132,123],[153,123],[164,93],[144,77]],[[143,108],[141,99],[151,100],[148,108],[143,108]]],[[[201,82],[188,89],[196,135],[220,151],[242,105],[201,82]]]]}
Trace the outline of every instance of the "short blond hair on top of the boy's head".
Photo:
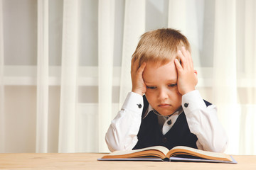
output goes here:
{"type": "Polygon", "coordinates": [[[134,60],[139,60],[139,64],[143,62],[165,64],[178,58],[177,52],[182,46],[191,52],[187,38],[179,30],[171,28],[151,30],[141,36],[132,57],[134,60]]]}

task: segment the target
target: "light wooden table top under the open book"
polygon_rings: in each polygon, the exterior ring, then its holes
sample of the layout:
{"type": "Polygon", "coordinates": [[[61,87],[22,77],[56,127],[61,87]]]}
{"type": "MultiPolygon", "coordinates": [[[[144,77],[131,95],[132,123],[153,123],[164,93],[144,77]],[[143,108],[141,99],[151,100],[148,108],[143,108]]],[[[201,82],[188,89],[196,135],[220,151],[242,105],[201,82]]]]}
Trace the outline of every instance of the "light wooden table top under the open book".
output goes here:
{"type": "Polygon", "coordinates": [[[0,169],[256,169],[256,155],[233,156],[238,164],[195,162],[106,162],[97,161],[104,154],[0,154],[0,169]]]}

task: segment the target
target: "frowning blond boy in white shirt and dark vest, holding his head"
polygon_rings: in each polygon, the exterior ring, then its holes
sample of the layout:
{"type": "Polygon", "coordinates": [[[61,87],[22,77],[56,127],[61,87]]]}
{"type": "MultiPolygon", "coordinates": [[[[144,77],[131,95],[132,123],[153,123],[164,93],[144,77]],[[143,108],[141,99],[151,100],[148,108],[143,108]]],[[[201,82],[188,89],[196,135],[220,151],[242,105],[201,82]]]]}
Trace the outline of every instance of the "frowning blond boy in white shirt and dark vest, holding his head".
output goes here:
{"type": "Polygon", "coordinates": [[[195,89],[190,45],[178,30],[144,33],[132,55],[131,76],[132,92],[105,137],[111,152],[156,145],[225,151],[228,138],[215,106],[195,89]]]}

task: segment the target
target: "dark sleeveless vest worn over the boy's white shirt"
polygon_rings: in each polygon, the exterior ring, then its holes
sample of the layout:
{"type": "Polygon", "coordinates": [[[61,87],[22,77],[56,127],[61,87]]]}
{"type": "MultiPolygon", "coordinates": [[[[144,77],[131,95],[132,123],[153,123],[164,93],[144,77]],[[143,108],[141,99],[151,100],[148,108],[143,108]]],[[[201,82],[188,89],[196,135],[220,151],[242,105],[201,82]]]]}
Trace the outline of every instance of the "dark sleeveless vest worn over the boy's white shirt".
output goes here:
{"type": "MultiPolygon", "coordinates": [[[[149,103],[145,96],[143,96],[143,101],[144,108],[142,115],[146,113],[149,107],[149,103]]],[[[208,101],[204,102],[206,103],[206,106],[211,105],[211,103],[208,101]]],[[[142,123],[139,128],[137,137],[138,142],[133,149],[141,149],[144,147],[153,146],[164,146],[168,149],[176,146],[186,146],[197,149],[196,141],[198,138],[189,130],[184,112],[178,116],[173,127],[169,130],[169,132],[166,132],[165,135],[163,135],[161,132],[157,115],[153,113],[153,111],[149,112],[149,114],[146,115],[146,118],[143,118],[142,116],[142,123]]]]}

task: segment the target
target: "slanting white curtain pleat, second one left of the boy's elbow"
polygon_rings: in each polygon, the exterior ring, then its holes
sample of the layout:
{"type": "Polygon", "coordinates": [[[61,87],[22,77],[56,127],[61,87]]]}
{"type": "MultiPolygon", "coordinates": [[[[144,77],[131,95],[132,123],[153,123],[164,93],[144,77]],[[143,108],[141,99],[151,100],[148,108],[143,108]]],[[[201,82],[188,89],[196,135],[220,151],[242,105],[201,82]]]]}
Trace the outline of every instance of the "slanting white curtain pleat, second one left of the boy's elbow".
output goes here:
{"type": "Polygon", "coordinates": [[[58,152],[76,151],[78,11],[79,0],[64,1],[58,152]]]}

